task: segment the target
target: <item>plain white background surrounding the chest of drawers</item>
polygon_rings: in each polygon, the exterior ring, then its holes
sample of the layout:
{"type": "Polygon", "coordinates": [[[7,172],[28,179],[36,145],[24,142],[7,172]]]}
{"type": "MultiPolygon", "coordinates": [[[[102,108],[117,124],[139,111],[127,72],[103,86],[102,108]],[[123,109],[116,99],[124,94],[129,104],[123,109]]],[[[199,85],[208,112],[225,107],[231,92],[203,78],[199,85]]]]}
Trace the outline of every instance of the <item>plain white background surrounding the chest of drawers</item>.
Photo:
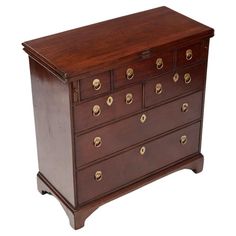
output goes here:
{"type": "Polygon", "coordinates": [[[0,235],[236,235],[233,3],[1,1],[0,235]],[[204,171],[195,175],[182,170],[105,204],[87,219],[84,228],[74,231],[59,202],[41,196],[36,189],[31,85],[21,43],[162,5],[215,29],[205,103],[204,171]]]}

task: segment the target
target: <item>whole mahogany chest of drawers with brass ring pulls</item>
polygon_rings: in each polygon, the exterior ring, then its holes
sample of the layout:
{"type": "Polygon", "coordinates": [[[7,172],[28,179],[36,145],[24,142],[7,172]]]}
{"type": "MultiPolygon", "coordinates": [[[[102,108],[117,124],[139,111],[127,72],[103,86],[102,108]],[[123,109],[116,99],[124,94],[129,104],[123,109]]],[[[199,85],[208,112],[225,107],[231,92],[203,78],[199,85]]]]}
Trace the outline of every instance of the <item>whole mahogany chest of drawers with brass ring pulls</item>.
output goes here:
{"type": "Polygon", "coordinates": [[[203,167],[214,31],[167,7],[27,41],[38,189],[78,229],[99,206],[203,167]]]}

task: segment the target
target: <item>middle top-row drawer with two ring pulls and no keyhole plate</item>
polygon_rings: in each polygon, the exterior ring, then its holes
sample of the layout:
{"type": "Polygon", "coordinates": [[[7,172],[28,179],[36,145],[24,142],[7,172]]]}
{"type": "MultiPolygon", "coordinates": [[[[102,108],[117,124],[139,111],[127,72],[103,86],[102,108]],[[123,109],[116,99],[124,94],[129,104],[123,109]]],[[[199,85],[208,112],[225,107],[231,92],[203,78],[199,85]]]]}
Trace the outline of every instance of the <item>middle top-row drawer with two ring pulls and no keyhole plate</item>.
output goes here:
{"type": "Polygon", "coordinates": [[[158,52],[151,58],[132,61],[114,70],[114,86],[117,88],[160,75],[170,71],[172,65],[173,53],[171,51],[158,52]]]}

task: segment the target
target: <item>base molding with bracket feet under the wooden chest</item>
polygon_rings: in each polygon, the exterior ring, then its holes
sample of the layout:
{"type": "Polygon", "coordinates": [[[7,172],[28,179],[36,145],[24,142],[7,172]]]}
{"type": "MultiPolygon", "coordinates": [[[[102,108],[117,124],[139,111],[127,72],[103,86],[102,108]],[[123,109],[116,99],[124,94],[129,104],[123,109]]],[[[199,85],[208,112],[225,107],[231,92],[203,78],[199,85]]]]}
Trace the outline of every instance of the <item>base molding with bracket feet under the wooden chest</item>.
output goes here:
{"type": "Polygon", "coordinates": [[[182,169],[190,169],[194,173],[199,173],[203,169],[203,163],[204,163],[204,157],[201,154],[197,154],[191,158],[182,160],[181,162],[178,162],[172,166],[169,166],[165,169],[159,170],[158,172],[138,181],[135,182],[129,186],[126,186],[122,189],[119,189],[115,192],[112,192],[110,194],[107,194],[106,196],[101,197],[100,199],[91,201],[87,203],[86,205],[79,206],[78,208],[74,208],[54,187],[53,185],[39,172],[37,174],[37,185],[38,185],[38,191],[41,194],[51,194],[54,197],[56,197],[63,209],[65,210],[70,225],[74,229],[79,229],[84,226],[85,220],[101,205],[114,200],[118,197],[123,196],[124,194],[127,194],[135,189],[138,189],[148,183],[151,183],[157,179],[160,179],[168,174],[171,174],[173,172],[182,170],[182,169]]]}

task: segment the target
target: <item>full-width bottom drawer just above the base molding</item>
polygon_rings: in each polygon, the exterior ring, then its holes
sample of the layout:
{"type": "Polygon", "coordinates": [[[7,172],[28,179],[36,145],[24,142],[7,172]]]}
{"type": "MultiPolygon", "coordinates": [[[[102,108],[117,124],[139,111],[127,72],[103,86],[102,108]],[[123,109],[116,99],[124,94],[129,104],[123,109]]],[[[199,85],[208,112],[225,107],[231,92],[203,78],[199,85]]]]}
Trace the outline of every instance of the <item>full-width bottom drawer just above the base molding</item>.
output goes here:
{"type": "Polygon", "coordinates": [[[200,123],[196,123],[78,171],[79,204],[197,153],[199,133],[200,123]]]}

